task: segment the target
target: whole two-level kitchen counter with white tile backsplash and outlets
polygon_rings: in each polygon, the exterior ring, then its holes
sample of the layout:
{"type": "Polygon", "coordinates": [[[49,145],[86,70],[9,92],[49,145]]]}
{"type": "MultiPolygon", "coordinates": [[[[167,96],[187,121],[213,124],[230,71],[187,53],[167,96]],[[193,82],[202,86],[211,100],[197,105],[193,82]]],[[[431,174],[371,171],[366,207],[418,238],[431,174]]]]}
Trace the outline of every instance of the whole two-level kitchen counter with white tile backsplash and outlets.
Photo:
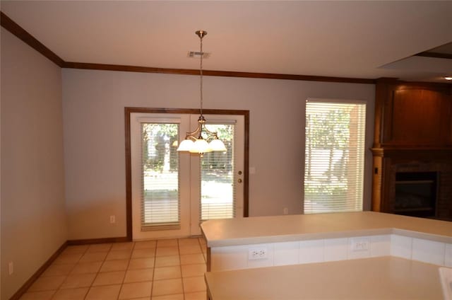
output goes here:
{"type": "Polygon", "coordinates": [[[352,212],[211,220],[201,229],[213,300],[441,299],[439,267],[452,267],[448,221],[352,212]]]}

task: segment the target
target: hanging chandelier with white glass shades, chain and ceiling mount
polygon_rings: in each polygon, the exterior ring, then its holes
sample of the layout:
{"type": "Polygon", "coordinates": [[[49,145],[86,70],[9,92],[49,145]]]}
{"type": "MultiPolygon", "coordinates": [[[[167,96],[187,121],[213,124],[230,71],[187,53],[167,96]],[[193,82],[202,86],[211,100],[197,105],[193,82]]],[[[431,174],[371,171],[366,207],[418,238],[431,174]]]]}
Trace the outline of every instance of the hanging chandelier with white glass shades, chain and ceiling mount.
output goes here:
{"type": "Polygon", "coordinates": [[[197,153],[201,157],[203,154],[211,151],[226,151],[225,144],[218,139],[217,132],[211,132],[206,127],[206,118],[203,116],[203,37],[207,35],[207,31],[198,30],[196,31],[199,40],[201,41],[201,55],[199,74],[201,79],[201,105],[200,105],[200,116],[198,118],[198,127],[193,132],[187,132],[185,139],[181,142],[177,151],[189,151],[190,153],[197,153]]]}

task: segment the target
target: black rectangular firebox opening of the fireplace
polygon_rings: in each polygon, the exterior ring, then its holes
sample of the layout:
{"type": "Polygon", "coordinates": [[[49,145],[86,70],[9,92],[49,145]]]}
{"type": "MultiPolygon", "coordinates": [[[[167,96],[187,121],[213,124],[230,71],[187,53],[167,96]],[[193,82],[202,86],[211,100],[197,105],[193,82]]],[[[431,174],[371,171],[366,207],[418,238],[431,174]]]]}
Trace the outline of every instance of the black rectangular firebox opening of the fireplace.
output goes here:
{"type": "Polygon", "coordinates": [[[435,217],[437,181],[437,172],[396,173],[394,213],[435,217]]]}

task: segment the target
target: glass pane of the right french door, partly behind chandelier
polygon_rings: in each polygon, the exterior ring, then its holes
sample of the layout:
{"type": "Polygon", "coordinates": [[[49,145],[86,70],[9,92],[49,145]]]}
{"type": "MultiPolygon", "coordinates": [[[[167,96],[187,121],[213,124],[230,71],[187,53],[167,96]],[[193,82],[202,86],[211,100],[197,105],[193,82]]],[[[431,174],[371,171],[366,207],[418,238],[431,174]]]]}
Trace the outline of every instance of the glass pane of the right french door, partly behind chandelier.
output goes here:
{"type": "Polygon", "coordinates": [[[201,158],[201,221],[235,217],[234,125],[208,125],[225,143],[226,152],[208,152],[201,158]]]}

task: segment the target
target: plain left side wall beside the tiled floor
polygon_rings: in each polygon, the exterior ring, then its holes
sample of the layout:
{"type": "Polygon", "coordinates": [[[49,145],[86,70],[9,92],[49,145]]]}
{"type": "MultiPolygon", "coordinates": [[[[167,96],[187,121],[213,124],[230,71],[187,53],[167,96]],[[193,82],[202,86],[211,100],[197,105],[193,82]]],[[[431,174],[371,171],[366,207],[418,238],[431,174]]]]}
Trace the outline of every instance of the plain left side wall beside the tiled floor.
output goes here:
{"type": "Polygon", "coordinates": [[[62,123],[61,69],[1,28],[1,299],[67,240],[62,123]]]}

